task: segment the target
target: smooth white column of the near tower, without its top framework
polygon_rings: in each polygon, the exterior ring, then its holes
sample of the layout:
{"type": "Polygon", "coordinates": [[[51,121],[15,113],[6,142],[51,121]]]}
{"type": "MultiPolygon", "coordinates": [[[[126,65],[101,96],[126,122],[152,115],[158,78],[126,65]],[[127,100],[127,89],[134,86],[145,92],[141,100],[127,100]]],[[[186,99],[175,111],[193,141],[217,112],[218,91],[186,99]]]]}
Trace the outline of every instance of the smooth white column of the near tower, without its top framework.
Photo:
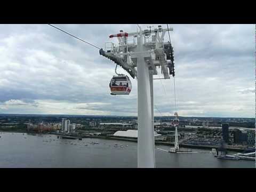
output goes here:
{"type": "MultiPolygon", "coordinates": [[[[138,35],[138,52],[143,51],[142,31],[138,35]]],[[[148,64],[144,55],[137,58],[138,79],[138,167],[155,167],[155,142],[152,130],[151,97],[148,64]]]]}

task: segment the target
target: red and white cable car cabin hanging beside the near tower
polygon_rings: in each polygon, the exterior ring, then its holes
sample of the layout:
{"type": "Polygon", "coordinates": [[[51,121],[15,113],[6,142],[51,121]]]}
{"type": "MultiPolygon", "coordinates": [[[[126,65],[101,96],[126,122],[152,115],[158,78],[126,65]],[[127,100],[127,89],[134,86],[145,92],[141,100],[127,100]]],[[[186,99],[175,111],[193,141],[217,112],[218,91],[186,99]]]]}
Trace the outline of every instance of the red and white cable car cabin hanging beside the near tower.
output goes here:
{"type": "Polygon", "coordinates": [[[128,76],[113,76],[109,83],[111,95],[129,95],[132,90],[132,83],[128,76]]]}

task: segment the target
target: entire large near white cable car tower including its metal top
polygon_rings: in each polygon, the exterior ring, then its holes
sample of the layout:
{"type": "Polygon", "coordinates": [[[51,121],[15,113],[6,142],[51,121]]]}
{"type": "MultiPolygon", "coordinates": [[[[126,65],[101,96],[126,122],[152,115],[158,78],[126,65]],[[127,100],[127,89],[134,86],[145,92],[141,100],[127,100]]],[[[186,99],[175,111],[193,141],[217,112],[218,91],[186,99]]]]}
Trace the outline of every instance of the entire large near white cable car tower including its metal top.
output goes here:
{"type": "Polygon", "coordinates": [[[100,55],[114,61],[138,79],[138,167],[155,167],[153,75],[161,67],[164,79],[174,76],[174,57],[171,42],[164,43],[166,31],[158,28],[110,35],[119,44],[105,43],[100,55]]]}

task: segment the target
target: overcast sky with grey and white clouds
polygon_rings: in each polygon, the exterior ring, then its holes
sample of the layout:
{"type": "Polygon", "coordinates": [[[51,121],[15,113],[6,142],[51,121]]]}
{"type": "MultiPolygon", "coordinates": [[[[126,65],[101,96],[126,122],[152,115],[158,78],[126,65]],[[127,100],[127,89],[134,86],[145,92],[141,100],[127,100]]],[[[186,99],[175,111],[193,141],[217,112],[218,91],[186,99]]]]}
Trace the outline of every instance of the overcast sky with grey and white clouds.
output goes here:
{"type": "MultiPolygon", "coordinates": [[[[120,29],[136,31],[136,25],[55,26],[99,47],[120,29]]],[[[170,27],[178,114],[255,117],[254,25],[170,27]]],[[[94,47],[48,25],[0,25],[0,31],[0,113],[137,115],[137,81],[130,95],[110,95],[115,64],[94,47]]],[[[173,115],[172,78],[154,81],[154,101],[155,115],[173,115]]]]}

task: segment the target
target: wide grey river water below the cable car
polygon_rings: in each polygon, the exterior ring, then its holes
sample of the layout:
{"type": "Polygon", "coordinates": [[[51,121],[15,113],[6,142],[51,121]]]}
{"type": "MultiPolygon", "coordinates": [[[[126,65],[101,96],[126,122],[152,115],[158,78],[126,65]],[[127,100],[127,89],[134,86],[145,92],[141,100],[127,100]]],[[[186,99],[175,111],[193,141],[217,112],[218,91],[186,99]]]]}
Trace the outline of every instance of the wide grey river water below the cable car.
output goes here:
{"type": "MultiPolygon", "coordinates": [[[[7,132],[0,133],[0,137],[0,167],[137,167],[136,142],[91,138],[69,140],[57,139],[57,135],[7,132]]],[[[169,150],[169,146],[156,146],[158,168],[255,167],[253,161],[218,159],[213,154],[171,154],[157,148],[169,150]]]]}

